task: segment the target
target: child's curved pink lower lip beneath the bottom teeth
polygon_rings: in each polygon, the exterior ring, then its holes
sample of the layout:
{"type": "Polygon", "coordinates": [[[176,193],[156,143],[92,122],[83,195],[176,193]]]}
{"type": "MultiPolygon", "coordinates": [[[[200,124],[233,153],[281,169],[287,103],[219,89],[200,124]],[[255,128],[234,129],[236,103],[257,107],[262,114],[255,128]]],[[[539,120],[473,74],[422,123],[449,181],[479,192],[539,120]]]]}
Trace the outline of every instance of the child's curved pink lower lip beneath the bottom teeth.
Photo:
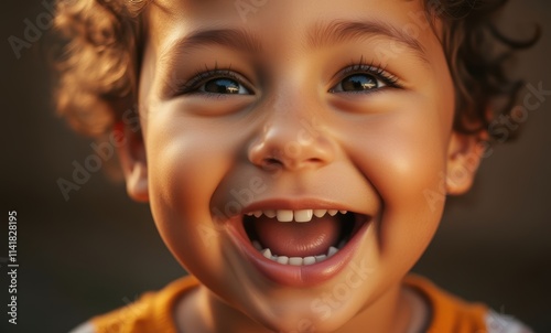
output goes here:
{"type": "Polygon", "coordinates": [[[252,247],[240,218],[239,221],[234,221],[229,229],[235,245],[268,279],[289,287],[312,287],[332,279],[348,265],[367,233],[369,225],[369,221],[364,222],[352,239],[331,258],[313,265],[302,266],[282,265],[262,256],[262,254],[252,247]]]}

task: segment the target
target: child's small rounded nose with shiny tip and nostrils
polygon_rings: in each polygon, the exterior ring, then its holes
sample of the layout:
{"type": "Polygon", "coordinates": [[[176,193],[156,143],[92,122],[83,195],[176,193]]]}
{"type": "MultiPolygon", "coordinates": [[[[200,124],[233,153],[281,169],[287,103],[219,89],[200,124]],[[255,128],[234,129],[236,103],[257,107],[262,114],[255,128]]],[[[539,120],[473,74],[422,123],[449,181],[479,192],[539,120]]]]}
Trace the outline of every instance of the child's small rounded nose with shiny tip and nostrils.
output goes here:
{"type": "Polygon", "coordinates": [[[264,122],[248,150],[249,161],[264,170],[317,169],[335,159],[335,142],[321,117],[279,112],[264,122]]]}

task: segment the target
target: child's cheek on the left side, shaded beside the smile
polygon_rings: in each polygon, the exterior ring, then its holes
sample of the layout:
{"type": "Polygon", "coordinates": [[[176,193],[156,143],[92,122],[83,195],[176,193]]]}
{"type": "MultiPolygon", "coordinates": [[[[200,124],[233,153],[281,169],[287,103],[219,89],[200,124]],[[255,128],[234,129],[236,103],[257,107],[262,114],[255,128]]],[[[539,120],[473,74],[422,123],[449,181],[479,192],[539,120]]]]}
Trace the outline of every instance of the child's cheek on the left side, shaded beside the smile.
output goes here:
{"type": "Polygon", "coordinates": [[[219,230],[212,223],[209,204],[233,164],[230,142],[220,139],[223,135],[177,116],[158,115],[148,125],[151,211],[170,250],[192,271],[204,262],[222,267],[216,262],[222,256],[215,253],[220,248],[219,230]]]}

